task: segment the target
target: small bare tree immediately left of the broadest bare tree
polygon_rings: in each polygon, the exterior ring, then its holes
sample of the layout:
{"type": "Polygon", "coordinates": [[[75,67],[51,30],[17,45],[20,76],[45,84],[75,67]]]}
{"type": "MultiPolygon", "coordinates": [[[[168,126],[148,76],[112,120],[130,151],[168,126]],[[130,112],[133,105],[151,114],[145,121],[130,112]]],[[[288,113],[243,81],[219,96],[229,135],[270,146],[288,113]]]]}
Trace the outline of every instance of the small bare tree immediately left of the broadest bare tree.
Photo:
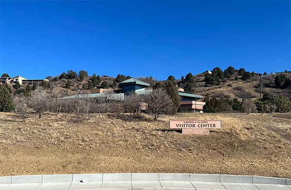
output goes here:
{"type": "Polygon", "coordinates": [[[141,97],[135,93],[127,95],[124,97],[124,106],[125,110],[129,112],[129,117],[135,113],[138,113],[140,106],[141,106],[141,97]]]}

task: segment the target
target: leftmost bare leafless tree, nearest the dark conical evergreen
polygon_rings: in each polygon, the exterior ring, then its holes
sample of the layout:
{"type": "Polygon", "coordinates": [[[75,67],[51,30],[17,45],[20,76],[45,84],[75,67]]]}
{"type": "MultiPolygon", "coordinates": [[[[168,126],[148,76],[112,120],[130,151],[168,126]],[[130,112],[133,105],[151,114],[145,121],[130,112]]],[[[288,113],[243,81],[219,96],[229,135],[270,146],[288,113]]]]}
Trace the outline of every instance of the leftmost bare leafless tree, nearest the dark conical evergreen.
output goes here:
{"type": "Polygon", "coordinates": [[[16,97],[14,99],[15,104],[15,110],[19,113],[20,118],[23,122],[26,121],[27,118],[29,118],[29,97],[25,97],[24,95],[21,95],[19,97],[16,97]]]}

